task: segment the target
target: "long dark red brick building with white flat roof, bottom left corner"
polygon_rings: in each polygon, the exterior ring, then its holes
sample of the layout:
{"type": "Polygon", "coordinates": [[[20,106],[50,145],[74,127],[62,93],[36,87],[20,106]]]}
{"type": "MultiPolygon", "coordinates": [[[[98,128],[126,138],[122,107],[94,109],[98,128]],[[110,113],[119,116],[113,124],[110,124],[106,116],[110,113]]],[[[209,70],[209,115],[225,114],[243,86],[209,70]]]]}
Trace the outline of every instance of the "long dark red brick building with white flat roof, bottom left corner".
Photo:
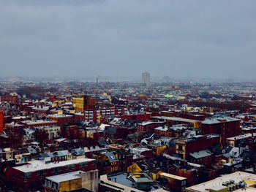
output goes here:
{"type": "Polygon", "coordinates": [[[94,159],[79,158],[59,163],[45,161],[29,161],[22,166],[12,167],[7,171],[7,180],[15,191],[37,191],[42,189],[45,177],[68,172],[89,172],[96,169],[94,159]]]}

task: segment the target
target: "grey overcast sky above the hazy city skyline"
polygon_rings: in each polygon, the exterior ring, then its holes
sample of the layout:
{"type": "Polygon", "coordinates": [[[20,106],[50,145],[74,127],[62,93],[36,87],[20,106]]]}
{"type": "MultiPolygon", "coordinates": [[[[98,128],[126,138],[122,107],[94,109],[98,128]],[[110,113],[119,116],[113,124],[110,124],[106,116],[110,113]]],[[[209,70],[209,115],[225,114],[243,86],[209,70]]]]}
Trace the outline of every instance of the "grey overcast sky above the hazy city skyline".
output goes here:
{"type": "Polygon", "coordinates": [[[0,0],[0,75],[256,79],[255,9],[255,0],[0,0]]]}

